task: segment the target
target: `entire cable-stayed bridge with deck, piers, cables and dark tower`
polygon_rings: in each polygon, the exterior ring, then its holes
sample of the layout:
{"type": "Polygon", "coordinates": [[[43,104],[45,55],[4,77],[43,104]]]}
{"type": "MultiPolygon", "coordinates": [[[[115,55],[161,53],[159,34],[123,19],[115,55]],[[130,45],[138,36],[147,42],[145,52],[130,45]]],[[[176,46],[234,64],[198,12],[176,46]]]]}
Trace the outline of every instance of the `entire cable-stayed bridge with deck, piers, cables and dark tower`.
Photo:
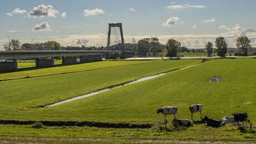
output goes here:
{"type": "MultiPolygon", "coordinates": [[[[117,33],[115,33],[114,35],[116,34],[117,33]]],[[[125,51],[124,36],[122,33],[122,23],[109,23],[107,39],[104,38],[100,44],[101,45],[97,46],[92,51],[3,51],[0,52],[0,59],[13,59],[13,61],[0,62],[0,71],[17,71],[17,60],[23,58],[35,58],[36,67],[53,67],[54,57],[61,57],[62,64],[76,64],[77,58],[80,58],[80,63],[102,61],[102,53],[107,53],[108,56],[109,53],[122,52],[122,58],[126,58],[126,53],[133,53],[132,51],[125,51]],[[110,47],[111,42],[113,46],[113,42],[118,39],[118,36],[114,36],[114,41],[112,40],[113,37],[111,37],[111,29],[114,27],[120,28],[122,51],[113,51],[110,47]],[[106,46],[103,46],[102,43],[105,43],[106,46]]]]}

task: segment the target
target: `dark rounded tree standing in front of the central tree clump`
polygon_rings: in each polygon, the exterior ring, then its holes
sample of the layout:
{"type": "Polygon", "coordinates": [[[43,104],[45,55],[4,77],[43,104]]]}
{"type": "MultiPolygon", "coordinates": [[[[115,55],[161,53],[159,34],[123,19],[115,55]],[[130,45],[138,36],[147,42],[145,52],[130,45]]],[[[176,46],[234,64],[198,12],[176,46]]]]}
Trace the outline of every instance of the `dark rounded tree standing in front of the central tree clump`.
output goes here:
{"type": "Polygon", "coordinates": [[[166,43],[166,49],[167,49],[167,54],[166,56],[168,57],[176,57],[178,54],[178,48],[180,47],[180,42],[176,41],[175,39],[169,39],[166,43]]]}

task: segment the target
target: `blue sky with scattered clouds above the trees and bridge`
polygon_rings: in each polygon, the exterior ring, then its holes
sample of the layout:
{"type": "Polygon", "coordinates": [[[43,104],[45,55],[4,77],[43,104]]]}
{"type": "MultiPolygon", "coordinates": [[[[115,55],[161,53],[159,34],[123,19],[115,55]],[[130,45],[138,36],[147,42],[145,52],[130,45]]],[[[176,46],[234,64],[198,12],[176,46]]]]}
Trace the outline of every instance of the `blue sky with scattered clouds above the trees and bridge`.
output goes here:
{"type": "Polygon", "coordinates": [[[204,48],[224,37],[235,47],[247,36],[256,47],[254,0],[1,1],[0,50],[10,39],[21,43],[57,41],[61,46],[97,46],[109,23],[122,23],[126,43],[173,38],[188,48],[204,48]]]}

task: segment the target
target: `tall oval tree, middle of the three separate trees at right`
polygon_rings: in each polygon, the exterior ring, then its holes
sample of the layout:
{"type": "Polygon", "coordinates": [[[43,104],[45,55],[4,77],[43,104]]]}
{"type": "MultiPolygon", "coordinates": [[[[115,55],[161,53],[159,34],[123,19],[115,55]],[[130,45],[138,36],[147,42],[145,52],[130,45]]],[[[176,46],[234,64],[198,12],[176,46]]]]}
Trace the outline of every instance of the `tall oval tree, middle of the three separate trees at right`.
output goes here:
{"type": "Polygon", "coordinates": [[[215,51],[217,52],[218,56],[225,57],[226,53],[228,52],[228,44],[225,41],[224,37],[218,37],[215,41],[215,51]]]}

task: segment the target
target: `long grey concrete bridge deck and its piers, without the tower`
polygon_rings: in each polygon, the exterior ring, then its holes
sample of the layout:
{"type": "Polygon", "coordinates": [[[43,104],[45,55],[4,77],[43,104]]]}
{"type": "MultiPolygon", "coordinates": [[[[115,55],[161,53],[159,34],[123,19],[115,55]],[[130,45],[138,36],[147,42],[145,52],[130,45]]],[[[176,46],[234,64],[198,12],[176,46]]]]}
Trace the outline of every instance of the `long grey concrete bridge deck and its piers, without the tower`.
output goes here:
{"type": "Polygon", "coordinates": [[[53,67],[54,57],[62,57],[62,64],[76,64],[77,56],[80,62],[102,61],[102,53],[120,51],[2,51],[0,59],[13,61],[0,62],[0,71],[17,71],[17,59],[36,58],[36,67],[53,67]],[[45,59],[51,57],[51,59],[45,59]]]}

